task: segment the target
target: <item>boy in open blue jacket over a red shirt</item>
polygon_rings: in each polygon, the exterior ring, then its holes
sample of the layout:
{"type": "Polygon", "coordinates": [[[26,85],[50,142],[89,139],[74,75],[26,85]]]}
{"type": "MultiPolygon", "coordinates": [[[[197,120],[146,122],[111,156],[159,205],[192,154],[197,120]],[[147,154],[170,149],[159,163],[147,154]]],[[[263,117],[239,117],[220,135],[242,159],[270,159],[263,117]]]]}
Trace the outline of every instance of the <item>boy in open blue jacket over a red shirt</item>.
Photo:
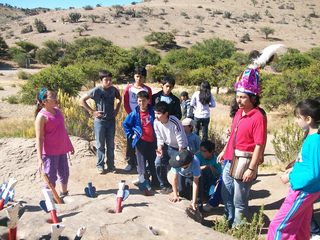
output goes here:
{"type": "Polygon", "coordinates": [[[137,93],[138,106],[126,117],[123,129],[128,139],[132,139],[132,148],[137,158],[139,188],[145,195],[150,195],[150,183],[146,174],[146,161],[152,177],[151,185],[157,185],[154,159],[156,158],[156,136],[153,129],[154,111],[148,104],[149,95],[146,91],[137,93]]]}

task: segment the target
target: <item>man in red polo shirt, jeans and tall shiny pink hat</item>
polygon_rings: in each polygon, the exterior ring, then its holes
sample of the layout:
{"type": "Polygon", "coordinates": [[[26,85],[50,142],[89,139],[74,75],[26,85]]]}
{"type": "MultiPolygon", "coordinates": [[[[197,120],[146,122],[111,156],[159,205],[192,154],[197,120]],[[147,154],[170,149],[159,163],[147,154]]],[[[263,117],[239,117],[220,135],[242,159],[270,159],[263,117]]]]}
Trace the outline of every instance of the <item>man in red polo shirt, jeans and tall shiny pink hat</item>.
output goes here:
{"type": "Polygon", "coordinates": [[[223,162],[222,199],[229,226],[243,223],[248,214],[249,192],[257,177],[258,165],[263,158],[266,144],[267,119],[259,108],[260,86],[257,69],[248,68],[235,84],[238,111],[233,118],[231,135],[218,161],[223,162]],[[235,152],[249,154],[249,167],[241,180],[230,176],[231,162],[235,152]]]}

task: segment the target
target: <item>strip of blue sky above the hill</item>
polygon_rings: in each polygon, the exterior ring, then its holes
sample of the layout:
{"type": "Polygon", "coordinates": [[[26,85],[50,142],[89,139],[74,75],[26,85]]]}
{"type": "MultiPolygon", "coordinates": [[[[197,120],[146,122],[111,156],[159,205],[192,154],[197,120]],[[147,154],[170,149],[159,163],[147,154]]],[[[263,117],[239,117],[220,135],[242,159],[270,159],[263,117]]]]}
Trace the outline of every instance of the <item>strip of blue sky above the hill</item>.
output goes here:
{"type": "Polygon", "coordinates": [[[0,0],[0,3],[8,3],[11,6],[21,8],[81,8],[86,5],[95,7],[97,4],[101,4],[102,6],[112,6],[116,4],[128,5],[131,4],[131,2],[139,2],[139,0],[0,0]]]}

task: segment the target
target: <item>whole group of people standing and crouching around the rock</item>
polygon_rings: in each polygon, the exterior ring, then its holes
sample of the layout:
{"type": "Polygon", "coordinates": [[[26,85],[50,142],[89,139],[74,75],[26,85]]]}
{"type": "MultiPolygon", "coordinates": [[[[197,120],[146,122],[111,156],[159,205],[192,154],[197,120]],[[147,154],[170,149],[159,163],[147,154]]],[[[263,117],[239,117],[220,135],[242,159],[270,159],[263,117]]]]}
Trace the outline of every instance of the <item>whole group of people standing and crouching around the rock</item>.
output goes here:
{"type": "MultiPolygon", "coordinates": [[[[230,227],[241,225],[248,216],[249,193],[263,162],[267,139],[267,117],[259,107],[259,69],[247,68],[237,79],[230,136],[218,156],[214,142],[208,137],[210,108],[215,107],[215,100],[207,81],[201,83],[191,99],[187,92],[182,92],[179,99],[172,93],[174,79],[165,76],[162,90],[152,94],[151,88],[144,84],[145,68],[138,67],[134,71],[134,83],[128,84],[122,98],[112,85],[110,72],[101,71],[99,77],[101,86],[80,99],[80,105],[94,117],[97,171],[115,171],[115,118],[123,101],[128,113],[123,122],[128,159],[125,170],[136,167],[138,179],[134,184],[145,195],[151,195],[155,188],[160,188],[162,194],[172,192],[172,202],[178,202],[186,189],[191,189],[190,207],[196,210],[210,199],[222,176],[221,197],[226,219],[230,227]],[[94,109],[87,104],[88,99],[94,100],[94,109]]],[[[69,177],[66,153],[74,149],[56,105],[55,93],[43,88],[37,101],[39,168],[48,174],[54,186],[59,177],[61,193],[66,195],[69,177]]],[[[320,195],[320,101],[300,102],[295,116],[298,125],[308,133],[299,157],[282,177],[284,182],[290,182],[290,192],[270,224],[268,239],[308,239],[312,205],[320,195]]],[[[201,210],[212,209],[208,201],[201,210]]]]}

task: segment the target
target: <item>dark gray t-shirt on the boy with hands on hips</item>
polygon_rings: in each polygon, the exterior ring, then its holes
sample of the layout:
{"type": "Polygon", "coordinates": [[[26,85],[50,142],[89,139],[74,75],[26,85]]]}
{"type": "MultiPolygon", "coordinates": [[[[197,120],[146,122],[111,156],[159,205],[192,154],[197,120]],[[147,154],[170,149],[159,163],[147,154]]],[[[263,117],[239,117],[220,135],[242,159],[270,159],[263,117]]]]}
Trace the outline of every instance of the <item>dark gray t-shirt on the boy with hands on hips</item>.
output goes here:
{"type": "Polygon", "coordinates": [[[96,110],[103,112],[103,117],[100,119],[111,120],[114,119],[114,99],[120,99],[118,89],[111,86],[107,89],[103,87],[95,87],[89,91],[88,96],[96,103],[96,110]]]}

